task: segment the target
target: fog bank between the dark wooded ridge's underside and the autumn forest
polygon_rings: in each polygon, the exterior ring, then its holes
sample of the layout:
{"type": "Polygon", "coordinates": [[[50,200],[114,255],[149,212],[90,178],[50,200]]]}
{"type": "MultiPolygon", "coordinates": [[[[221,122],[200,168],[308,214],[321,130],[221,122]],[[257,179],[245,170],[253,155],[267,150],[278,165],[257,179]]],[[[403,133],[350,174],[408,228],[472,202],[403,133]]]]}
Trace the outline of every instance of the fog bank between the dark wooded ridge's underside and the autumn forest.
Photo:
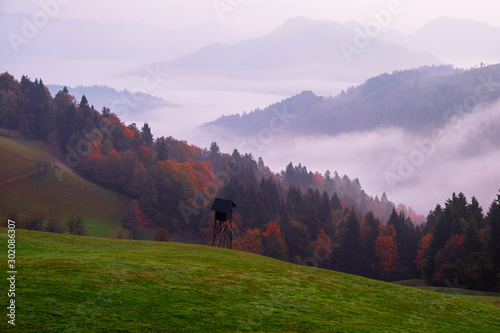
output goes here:
{"type": "Polygon", "coordinates": [[[335,137],[274,133],[218,143],[224,152],[242,148],[261,156],[273,171],[293,162],[313,172],[357,177],[369,195],[385,191],[389,200],[423,214],[460,191],[469,200],[476,196],[487,210],[500,188],[500,103],[458,115],[438,131],[380,128],[335,137]]]}

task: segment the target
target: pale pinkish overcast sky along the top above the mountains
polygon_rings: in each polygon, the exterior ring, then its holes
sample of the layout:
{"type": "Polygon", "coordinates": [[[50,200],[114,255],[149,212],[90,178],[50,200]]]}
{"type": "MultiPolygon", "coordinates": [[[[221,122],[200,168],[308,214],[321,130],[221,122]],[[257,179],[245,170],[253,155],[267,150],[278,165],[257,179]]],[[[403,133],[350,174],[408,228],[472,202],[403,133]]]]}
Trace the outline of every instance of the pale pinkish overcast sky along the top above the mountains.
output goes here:
{"type": "Polygon", "coordinates": [[[390,28],[405,33],[440,16],[500,26],[498,0],[0,0],[0,10],[33,15],[40,10],[41,3],[54,1],[61,4],[58,18],[143,23],[166,28],[218,22],[255,34],[269,32],[298,15],[366,24],[373,20],[373,12],[386,10],[391,3],[400,10],[391,18],[390,28]]]}

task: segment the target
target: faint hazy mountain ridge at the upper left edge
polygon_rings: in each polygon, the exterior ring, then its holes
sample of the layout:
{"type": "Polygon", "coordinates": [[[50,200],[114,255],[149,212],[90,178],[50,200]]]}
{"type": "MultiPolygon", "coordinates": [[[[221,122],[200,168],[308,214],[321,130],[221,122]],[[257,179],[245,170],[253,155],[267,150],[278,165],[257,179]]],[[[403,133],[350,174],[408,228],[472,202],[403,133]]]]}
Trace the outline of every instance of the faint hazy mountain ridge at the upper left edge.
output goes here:
{"type": "Polygon", "coordinates": [[[150,62],[188,54],[216,41],[241,38],[217,23],[179,31],[59,18],[51,18],[38,28],[32,21],[30,15],[0,11],[0,66],[8,68],[10,62],[37,58],[150,62]]]}

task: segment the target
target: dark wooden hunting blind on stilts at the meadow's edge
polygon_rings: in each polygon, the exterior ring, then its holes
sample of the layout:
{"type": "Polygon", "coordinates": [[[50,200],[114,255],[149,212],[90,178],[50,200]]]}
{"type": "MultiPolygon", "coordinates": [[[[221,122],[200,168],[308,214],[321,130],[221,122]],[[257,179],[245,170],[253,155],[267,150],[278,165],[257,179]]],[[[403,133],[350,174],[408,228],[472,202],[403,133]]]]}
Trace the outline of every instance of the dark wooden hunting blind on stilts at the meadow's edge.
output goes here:
{"type": "Polygon", "coordinates": [[[231,200],[215,198],[210,210],[215,211],[214,232],[212,246],[232,248],[234,232],[232,229],[233,207],[236,204],[231,200]]]}

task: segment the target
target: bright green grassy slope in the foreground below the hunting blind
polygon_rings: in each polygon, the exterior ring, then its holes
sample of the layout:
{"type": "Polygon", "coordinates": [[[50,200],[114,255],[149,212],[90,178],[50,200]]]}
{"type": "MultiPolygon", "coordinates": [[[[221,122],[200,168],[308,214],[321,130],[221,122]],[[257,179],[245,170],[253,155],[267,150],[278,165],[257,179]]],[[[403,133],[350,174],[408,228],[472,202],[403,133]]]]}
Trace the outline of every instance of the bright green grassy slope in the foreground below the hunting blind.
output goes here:
{"type": "Polygon", "coordinates": [[[500,308],[469,297],[234,250],[19,229],[16,256],[22,332],[500,330],[500,308]]]}

